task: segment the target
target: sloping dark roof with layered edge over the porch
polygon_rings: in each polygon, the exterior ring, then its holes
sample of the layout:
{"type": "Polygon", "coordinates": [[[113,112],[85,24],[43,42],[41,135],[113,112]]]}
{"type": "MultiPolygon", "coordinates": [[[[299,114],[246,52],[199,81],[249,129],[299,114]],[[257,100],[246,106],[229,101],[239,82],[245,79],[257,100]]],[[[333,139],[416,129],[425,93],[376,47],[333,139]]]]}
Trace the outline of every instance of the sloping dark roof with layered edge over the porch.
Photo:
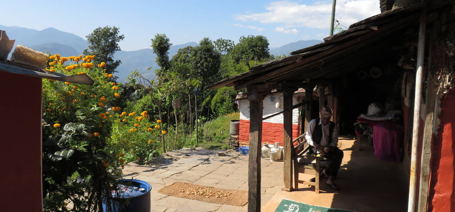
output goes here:
{"type": "Polygon", "coordinates": [[[349,29],[324,38],[324,42],[291,52],[290,56],[260,64],[248,72],[223,79],[208,86],[217,89],[235,86],[236,90],[253,84],[304,82],[309,79],[334,78],[377,62],[391,48],[391,36],[418,21],[422,4],[410,5],[374,15],[349,26],[349,29]]]}

